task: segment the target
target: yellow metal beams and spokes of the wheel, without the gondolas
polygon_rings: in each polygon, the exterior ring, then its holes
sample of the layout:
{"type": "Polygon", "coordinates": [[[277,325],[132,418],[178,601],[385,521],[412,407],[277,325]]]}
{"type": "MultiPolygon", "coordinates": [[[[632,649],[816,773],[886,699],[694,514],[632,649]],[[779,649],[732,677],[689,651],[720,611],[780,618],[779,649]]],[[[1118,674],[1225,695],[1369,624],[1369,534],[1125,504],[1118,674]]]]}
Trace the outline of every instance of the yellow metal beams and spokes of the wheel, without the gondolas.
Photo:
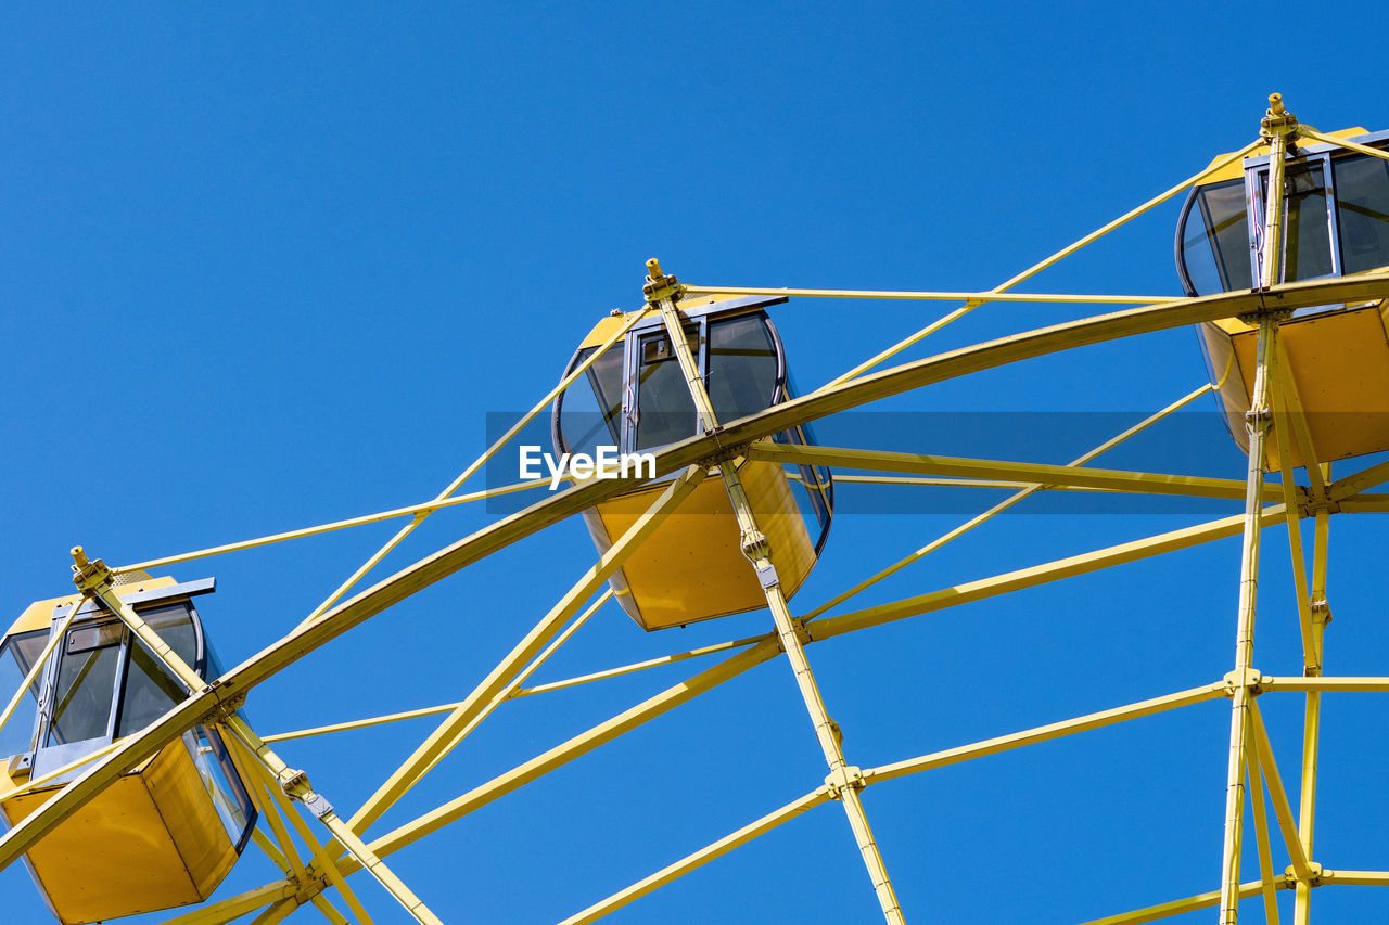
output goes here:
{"type": "MultiPolygon", "coordinates": [[[[1360,472],[1332,479],[1331,467],[1318,461],[1317,447],[1310,438],[1310,429],[1300,401],[1297,382],[1290,375],[1290,368],[1278,340],[1279,322],[1296,308],[1338,303],[1358,304],[1389,299],[1389,274],[1374,272],[1342,279],[1297,283],[1278,282],[1278,242],[1283,233],[1282,208],[1278,199],[1281,183],[1278,178],[1282,174],[1288,147],[1296,143],[1297,139],[1342,144],[1351,150],[1389,158],[1383,151],[1363,149],[1363,146],[1335,136],[1321,135],[1306,125],[1300,125],[1283,110],[1281,99],[1275,94],[1270,100],[1270,108],[1261,125],[1261,138],[1258,140],[1251,142],[1239,151],[1217,158],[1210,167],[1183,183],[1158,194],[988,292],[685,288],[674,276],[664,274],[660,264],[650,261],[646,279],[647,307],[643,311],[614,318],[613,325],[610,325],[611,333],[599,344],[600,349],[538,401],[514,428],[464,469],[433,500],[379,514],[338,521],[335,524],[281,532],[178,556],[151,558],[114,569],[114,572],[106,568],[100,560],[89,560],[81,547],[75,549],[75,582],[82,594],[99,600],[126,622],[132,632],[139,635],[178,678],[183,679],[192,694],[142,732],[122,739],[79,762],[74,762],[74,767],[85,768],[81,775],[64,786],[40,810],[24,819],[4,838],[0,838],[0,867],[14,862],[28,847],[35,844],[44,833],[51,831],[53,826],[76,811],[88,800],[93,799],[118,775],[153,756],[185,729],[196,724],[211,724],[222,731],[232,750],[233,760],[247,781],[247,789],[264,822],[264,826],[258,828],[254,833],[254,843],[279,871],[279,879],[239,896],[207,903],[197,910],[169,919],[171,922],[213,925],[217,922],[229,922],[249,914],[257,915],[256,922],[278,922],[297,908],[310,907],[315,908],[331,922],[369,922],[371,918],[364,904],[347,883],[347,878],[361,869],[367,869],[413,918],[421,922],[436,922],[439,921],[438,917],[385,865],[385,857],[407,844],[419,842],[432,832],[457,822],[479,807],[490,804],[504,794],[636,729],[650,719],[664,715],[675,707],[732,681],[738,675],[763,662],[779,660],[785,656],[810,714],[813,732],[825,757],[829,774],[824,785],[808,793],[795,796],[788,803],[772,808],[725,838],[575,912],[571,918],[565,919],[567,924],[596,921],[651,890],[722,857],[738,846],[826,803],[839,803],[846,814],[858,856],[870,875],[883,918],[888,922],[903,922],[910,910],[903,910],[899,904],[886,864],[874,842],[868,815],[863,804],[863,792],[865,789],[906,775],[929,772],[936,768],[983,758],[1039,742],[1049,742],[1221,699],[1231,701],[1231,739],[1224,846],[1221,853],[1222,869],[1218,889],[1175,899],[1158,906],[1120,912],[1108,918],[1096,919],[1090,925],[1151,922],[1211,907],[1218,910],[1222,925],[1235,925],[1240,901],[1256,896],[1260,897],[1267,921],[1276,922],[1276,893],[1279,890],[1292,890],[1295,893],[1293,921],[1297,925],[1307,925],[1311,921],[1311,897],[1315,888],[1347,883],[1389,885],[1389,872],[1325,869],[1315,861],[1315,844],[1313,839],[1322,696],[1326,693],[1351,692],[1389,693],[1389,676],[1338,678],[1324,675],[1325,633],[1331,622],[1331,607],[1326,597],[1329,521],[1332,514],[1389,511],[1389,496],[1367,493],[1368,489],[1389,481],[1389,462],[1370,465],[1360,472]],[[1270,153],[1271,192],[1270,204],[1265,208],[1268,225],[1264,228],[1263,238],[1267,243],[1267,251],[1261,264],[1260,285],[1257,288],[1247,292],[1197,299],[1058,296],[1050,293],[1024,294],[1010,292],[1036,272],[1097,240],[1158,203],[1208,178],[1217,176],[1222,171],[1236,167],[1242,158],[1260,150],[1270,153]],[[713,297],[770,293],[857,299],[947,299],[964,301],[964,306],[933,321],[888,350],[853,367],[808,396],[790,400],[738,421],[721,422],[714,415],[713,406],[704,393],[703,381],[694,365],[693,354],[685,342],[679,300],[688,292],[713,297]],[[1110,314],[1068,321],[939,353],[874,372],[883,361],[900,354],[907,347],[921,342],[968,311],[990,301],[1065,301],[1079,304],[1124,304],[1136,301],[1140,304],[1135,308],[1122,308],[1110,314]],[[657,475],[674,478],[665,490],[651,503],[646,514],[626,533],[618,538],[611,549],[600,556],[588,571],[576,578],[572,588],[556,601],[554,607],[515,643],[513,650],[496,668],[479,681],[463,700],[382,717],[347,719],[297,732],[264,738],[257,735],[238,714],[238,708],[258,683],[293,665],[299,658],[319,649],[332,639],[351,631],[365,619],[406,600],[413,593],[546,526],[582,512],[619,493],[632,490],[639,485],[632,478],[590,479],[576,483],[565,492],[549,496],[517,514],[504,517],[471,536],[378,581],[367,590],[343,600],[382,558],[396,549],[433,511],[469,500],[531,488],[531,483],[519,483],[488,492],[456,494],[468,478],[506,446],[510,439],[519,433],[526,422],[549,407],[554,397],[582,375],[599,356],[619,344],[625,333],[650,312],[661,315],[676,346],[676,357],[686,375],[696,408],[700,412],[703,433],[668,446],[656,454],[657,475]],[[1195,389],[1161,411],[1135,424],[1110,440],[1100,443],[1065,465],[883,453],[846,447],[788,446],[770,440],[771,435],[786,428],[847,408],[861,407],[867,403],[918,389],[933,382],[954,379],[982,369],[1085,344],[1232,317],[1240,317],[1247,324],[1258,328],[1256,385],[1251,394],[1251,411],[1247,418],[1250,429],[1250,462],[1243,481],[1189,474],[1101,469],[1090,465],[1099,456],[1135,433],[1157,424],[1213,389],[1218,389],[1218,383],[1195,389]],[[1283,461],[1282,481],[1278,485],[1264,483],[1264,471],[1260,465],[1260,461],[1264,458],[1263,447],[1268,439],[1276,440],[1279,458],[1283,461]],[[1293,472],[1288,468],[1288,460],[1292,458],[1289,450],[1293,446],[1299,450],[1300,458],[1307,461],[1307,485],[1295,483],[1293,472]],[[792,611],[781,592],[775,568],[771,567],[765,536],[758,529],[757,511],[747,503],[736,469],[732,465],[726,465],[729,460],[736,457],[832,465],[836,469],[857,469],[872,474],[842,476],[846,481],[875,481],[904,486],[1007,486],[1017,490],[1011,497],[970,518],[961,526],[928,542],[915,553],[893,562],[832,599],[797,614],[792,611]],[[881,475],[883,472],[893,475],[881,475]],[[618,665],[563,681],[538,683],[529,688],[524,686],[531,675],[611,599],[611,592],[606,589],[606,583],[622,565],[624,560],[654,532],[665,517],[679,507],[681,501],[689,496],[700,481],[714,474],[724,482],[729,493],[742,531],[743,551],[749,558],[749,568],[754,569],[763,583],[768,610],[772,617],[772,626],[758,636],[671,653],[642,662],[618,665]],[[1243,499],[1245,506],[1240,514],[1217,518],[1204,524],[1096,549],[1089,553],[1028,568],[958,582],[925,594],[861,607],[858,610],[843,610],[845,603],[888,575],[920,561],[964,532],[974,529],[1033,493],[1043,490],[1243,499]],[[163,643],[158,635],[146,626],[135,611],[124,604],[113,590],[114,576],[124,571],[161,568],[206,556],[233,553],[265,543],[297,539],[329,529],[342,529],[393,517],[410,517],[411,519],[390,542],[349,575],[322,604],[306,615],[293,631],[217,679],[204,681],[194,675],[163,643]],[[1308,521],[1310,562],[1307,561],[1304,519],[1308,521]],[[1282,524],[1288,528],[1304,662],[1301,676],[1268,676],[1260,674],[1254,667],[1254,624],[1258,603],[1258,561],[1263,551],[1261,536],[1265,526],[1275,524],[1282,524]],[[826,704],[820,694],[814,672],[806,656],[806,650],[811,644],[897,619],[958,607],[971,601],[997,597],[1025,588],[1064,581],[1233,536],[1242,538],[1240,594],[1238,612],[1235,614],[1236,644],[1233,667],[1225,676],[1213,678],[1208,683],[1188,690],[1161,693],[1136,703],[904,758],[879,767],[861,768],[849,764],[843,753],[838,725],[831,718],[826,704]],[[658,665],[715,654],[724,654],[725,657],[679,683],[633,704],[604,722],[547,749],[428,812],[397,822],[388,832],[374,836],[368,835],[368,831],[396,806],[404,793],[435,768],[444,756],[458,747],[472,729],[500,710],[507,700],[538,696],[575,685],[600,682],[607,678],[658,665]],[[1283,783],[1285,776],[1274,758],[1274,747],[1258,707],[1258,697],[1271,692],[1297,693],[1304,697],[1301,761],[1299,767],[1300,781],[1296,793],[1290,792],[1283,783]],[[289,768],[269,749],[269,743],[285,739],[340,733],[383,722],[439,714],[444,714],[444,717],[435,731],[419,743],[415,751],[347,819],[339,818],[332,806],[310,788],[304,772],[289,768]],[[1251,810],[1253,835],[1258,857],[1258,878],[1254,881],[1242,879],[1240,871],[1246,807],[1251,810]],[[310,825],[306,814],[317,818],[324,829],[326,829],[322,840],[315,835],[315,829],[310,825]],[[1272,868],[1271,846],[1274,839],[1286,849],[1292,860],[1292,865],[1286,871],[1275,871],[1272,868]],[[336,890],[350,914],[342,912],[329,901],[328,890],[336,890]]],[[[604,328],[604,331],[608,331],[608,328],[604,328]]],[[[1226,375],[1229,375],[1229,368],[1222,372],[1222,378],[1226,375]]],[[[68,614],[68,619],[75,612],[76,607],[74,606],[68,614]]],[[[0,724],[15,711],[17,704],[22,699],[24,689],[31,682],[32,672],[31,678],[26,678],[25,683],[21,685],[19,692],[7,700],[7,707],[0,714],[0,724]]],[[[67,771],[63,769],[63,772],[67,771]]],[[[31,782],[21,792],[28,792],[38,783],[31,782]]],[[[925,912],[924,917],[926,917],[925,912]]]]}

